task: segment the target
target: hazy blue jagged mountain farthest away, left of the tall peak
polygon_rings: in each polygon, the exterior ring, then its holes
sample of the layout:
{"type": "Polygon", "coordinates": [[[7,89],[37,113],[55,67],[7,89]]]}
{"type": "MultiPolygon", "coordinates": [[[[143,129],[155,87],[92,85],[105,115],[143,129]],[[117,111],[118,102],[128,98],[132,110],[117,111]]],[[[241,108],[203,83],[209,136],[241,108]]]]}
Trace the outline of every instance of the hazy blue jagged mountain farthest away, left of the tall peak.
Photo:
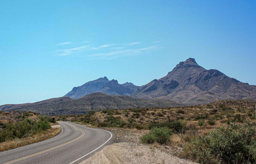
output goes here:
{"type": "Polygon", "coordinates": [[[138,87],[132,83],[119,84],[117,80],[101,77],[97,80],[89,81],[82,86],[74,87],[64,97],[79,99],[84,95],[94,92],[106,93],[108,95],[131,95],[138,87]]]}

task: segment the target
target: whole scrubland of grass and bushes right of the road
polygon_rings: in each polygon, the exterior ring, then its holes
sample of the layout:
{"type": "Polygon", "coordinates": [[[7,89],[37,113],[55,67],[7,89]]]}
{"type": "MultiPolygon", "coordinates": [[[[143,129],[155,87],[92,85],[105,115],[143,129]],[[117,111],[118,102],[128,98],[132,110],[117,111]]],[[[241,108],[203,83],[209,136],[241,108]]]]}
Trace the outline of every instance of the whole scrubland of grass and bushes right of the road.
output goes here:
{"type": "MultiPolygon", "coordinates": [[[[172,143],[171,145],[174,148],[181,146],[184,150],[179,152],[178,156],[190,158],[201,163],[232,163],[232,160],[238,163],[246,161],[255,163],[255,133],[251,133],[250,142],[244,142],[248,140],[249,131],[253,132],[252,130],[255,130],[255,112],[255,102],[253,100],[222,100],[208,105],[189,107],[102,110],[95,113],[92,112],[90,120],[82,120],[80,123],[94,127],[149,130],[148,133],[141,137],[142,143],[153,145],[155,143],[167,145],[172,143]],[[214,148],[212,145],[207,145],[208,141],[215,142],[218,145],[218,139],[221,136],[225,136],[225,133],[229,132],[230,128],[234,130],[234,126],[236,126],[246,129],[249,123],[251,130],[248,131],[248,134],[241,131],[244,135],[239,135],[246,151],[234,149],[231,145],[227,145],[223,146],[217,153],[218,147],[214,148]],[[165,138],[167,134],[168,139],[165,138]],[[207,142],[204,143],[202,141],[207,142]],[[225,160],[220,160],[220,154],[224,155],[227,148],[230,149],[233,156],[230,155],[225,157],[225,160]],[[200,149],[204,151],[200,152],[200,149]],[[219,155],[218,158],[217,155],[219,155]],[[236,155],[237,158],[235,159],[236,155]]],[[[79,120],[80,117],[84,118],[85,115],[59,116],[58,120],[72,121],[79,120]]],[[[238,132],[239,128],[235,131],[238,132]]],[[[235,138],[235,136],[230,136],[229,138],[232,137],[235,138]]],[[[231,141],[227,142],[231,143],[231,141]]],[[[234,145],[236,144],[234,139],[232,142],[234,145]]]]}

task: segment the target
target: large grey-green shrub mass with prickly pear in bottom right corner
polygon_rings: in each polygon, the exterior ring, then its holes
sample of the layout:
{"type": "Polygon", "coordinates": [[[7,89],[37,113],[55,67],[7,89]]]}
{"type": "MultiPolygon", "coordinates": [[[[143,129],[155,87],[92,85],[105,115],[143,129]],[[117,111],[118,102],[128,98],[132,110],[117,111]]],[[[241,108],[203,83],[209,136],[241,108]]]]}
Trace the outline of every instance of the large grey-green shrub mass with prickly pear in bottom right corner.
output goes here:
{"type": "Polygon", "coordinates": [[[206,136],[191,140],[185,149],[190,151],[199,163],[216,163],[217,161],[254,163],[256,161],[255,134],[253,124],[222,126],[210,131],[206,136]],[[216,157],[217,160],[215,160],[216,157]]]}

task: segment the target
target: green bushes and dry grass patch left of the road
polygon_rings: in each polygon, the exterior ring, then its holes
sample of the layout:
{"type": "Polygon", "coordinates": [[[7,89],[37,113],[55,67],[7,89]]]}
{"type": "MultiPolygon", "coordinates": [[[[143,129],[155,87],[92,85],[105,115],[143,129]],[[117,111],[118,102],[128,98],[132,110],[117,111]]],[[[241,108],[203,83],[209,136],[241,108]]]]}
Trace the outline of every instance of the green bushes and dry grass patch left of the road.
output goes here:
{"type": "Polygon", "coordinates": [[[0,151],[39,142],[57,135],[60,129],[51,129],[50,122],[52,121],[51,117],[37,115],[33,112],[1,111],[0,151]]]}

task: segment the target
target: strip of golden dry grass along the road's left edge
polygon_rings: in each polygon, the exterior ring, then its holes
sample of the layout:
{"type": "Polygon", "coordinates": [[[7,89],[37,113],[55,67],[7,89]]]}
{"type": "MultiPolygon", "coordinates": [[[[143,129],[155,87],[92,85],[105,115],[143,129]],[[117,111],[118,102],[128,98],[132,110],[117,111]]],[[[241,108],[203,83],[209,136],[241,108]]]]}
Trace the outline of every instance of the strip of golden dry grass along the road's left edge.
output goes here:
{"type": "Polygon", "coordinates": [[[29,145],[31,143],[47,140],[49,138],[56,136],[57,134],[59,134],[59,132],[60,132],[60,128],[51,128],[45,132],[35,134],[29,138],[16,139],[16,140],[0,143],[0,152],[18,148],[25,145],[29,145]]]}

